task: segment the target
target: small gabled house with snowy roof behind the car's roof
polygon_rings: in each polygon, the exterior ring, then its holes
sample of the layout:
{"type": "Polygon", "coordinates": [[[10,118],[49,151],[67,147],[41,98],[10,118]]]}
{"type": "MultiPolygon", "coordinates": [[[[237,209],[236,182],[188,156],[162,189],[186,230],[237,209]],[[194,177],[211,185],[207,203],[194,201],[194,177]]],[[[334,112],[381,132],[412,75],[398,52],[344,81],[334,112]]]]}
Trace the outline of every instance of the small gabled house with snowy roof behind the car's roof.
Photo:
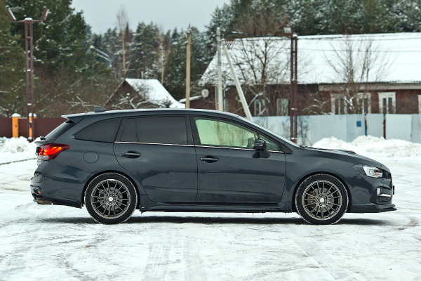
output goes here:
{"type": "Polygon", "coordinates": [[[105,107],[112,109],[185,108],[185,105],[175,100],[156,79],[126,78],[109,96],[105,107]]]}

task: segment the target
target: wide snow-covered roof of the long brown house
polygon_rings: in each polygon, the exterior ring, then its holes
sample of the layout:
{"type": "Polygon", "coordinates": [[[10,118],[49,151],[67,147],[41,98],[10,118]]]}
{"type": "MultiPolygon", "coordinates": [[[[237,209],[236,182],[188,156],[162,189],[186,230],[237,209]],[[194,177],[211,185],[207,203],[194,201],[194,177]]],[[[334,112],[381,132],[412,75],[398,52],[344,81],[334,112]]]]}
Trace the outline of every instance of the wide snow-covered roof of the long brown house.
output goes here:
{"type": "MultiPolygon", "coordinates": [[[[263,63],[267,64],[267,84],[290,83],[290,39],[234,39],[227,41],[227,48],[241,84],[261,84],[263,63]]],[[[347,58],[352,58],[356,76],[361,76],[363,62],[371,61],[368,74],[364,74],[363,78],[360,78],[361,81],[421,83],[421,33],[415,32],[299,36],[298,83],[343,83],[345,66],[349,65],[346,63],[347,58]],[[364,60],[364,55],[367,55],[369,60],[364,60]]],[[[215,55],[201,78],[201,84],[216,84],[216,66],[215,55]]],[[[234,84],[223,51],[222,74],[225,74],[228,85],[234,84]]]]}

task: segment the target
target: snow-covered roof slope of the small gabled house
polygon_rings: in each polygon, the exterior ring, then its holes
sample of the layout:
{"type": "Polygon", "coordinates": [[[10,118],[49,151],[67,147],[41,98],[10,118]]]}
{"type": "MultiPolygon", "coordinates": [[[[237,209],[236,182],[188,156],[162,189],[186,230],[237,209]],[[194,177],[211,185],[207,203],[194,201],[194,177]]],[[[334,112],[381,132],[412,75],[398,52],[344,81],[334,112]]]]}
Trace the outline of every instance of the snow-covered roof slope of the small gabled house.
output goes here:
{"type": "Polygon", "coordinates": [[[141,91],[142,89],[147,89],[146,96],[148,101],[152,103],[162,103],[162,101],[170,100],[172,103],[170,108],[184,108],[185,105],[179,103],[171,93],[162,86],[162,84],[156,79],[135,79],[135,78],[126,78],[126,82],[135,90],[141,91]]]}

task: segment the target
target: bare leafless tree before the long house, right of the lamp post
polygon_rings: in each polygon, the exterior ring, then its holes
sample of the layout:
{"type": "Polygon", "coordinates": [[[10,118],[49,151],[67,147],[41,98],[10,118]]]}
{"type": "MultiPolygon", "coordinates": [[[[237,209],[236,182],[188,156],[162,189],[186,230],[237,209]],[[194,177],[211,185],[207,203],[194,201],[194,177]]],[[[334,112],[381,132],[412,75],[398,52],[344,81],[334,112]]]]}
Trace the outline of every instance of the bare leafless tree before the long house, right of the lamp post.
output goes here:
{"type": "Polygon", "coordinates": [[[367,113],[363,100],[368,100],[369,93],[375,90],[371,86],[373,82],[380,81],[388,74],[391,61],[389,55],[385,50],[380,50],[379,46],[375,46],[370,37],[353,39],[347,35],[339,46],[330,46],[333,48],[333,55],[325,53],[324,56],[336,74],[336,82],[339,82],[333,94],[340,97],[340,106],[345,111],[342,113],[367,113]]]}

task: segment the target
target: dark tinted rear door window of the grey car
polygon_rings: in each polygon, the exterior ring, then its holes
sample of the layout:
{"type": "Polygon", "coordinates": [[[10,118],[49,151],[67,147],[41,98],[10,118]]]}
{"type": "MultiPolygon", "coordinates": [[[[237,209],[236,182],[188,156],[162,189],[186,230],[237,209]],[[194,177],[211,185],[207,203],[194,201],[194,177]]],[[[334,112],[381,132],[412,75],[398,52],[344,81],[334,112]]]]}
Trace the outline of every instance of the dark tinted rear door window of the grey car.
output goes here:
{"type": "Polygon", "coordinates": [[[185,117],[141,117],[136,119],[136,126],[140,143],[187,145],[185,117]]]}

